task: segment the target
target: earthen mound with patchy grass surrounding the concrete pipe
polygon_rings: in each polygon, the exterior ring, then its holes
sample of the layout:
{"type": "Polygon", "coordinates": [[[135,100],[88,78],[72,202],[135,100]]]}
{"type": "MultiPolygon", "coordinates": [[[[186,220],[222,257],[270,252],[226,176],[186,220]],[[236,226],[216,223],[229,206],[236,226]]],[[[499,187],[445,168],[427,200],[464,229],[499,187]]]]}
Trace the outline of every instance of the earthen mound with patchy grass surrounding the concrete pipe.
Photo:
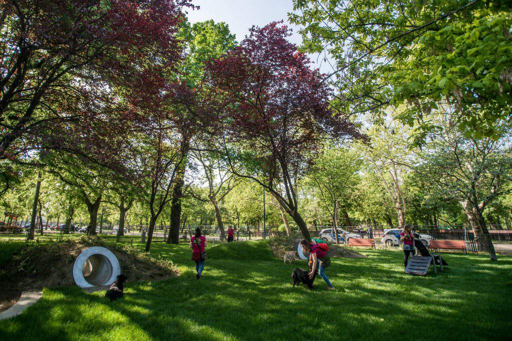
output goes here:
{"type": "Polygon", "coordinates": [[[0,267],[0,311],[12,306],[22,291],[76,285],[74,262],[80,252],[90,246],[111,250],[119,260],[121,272],[130,282],[163,280],[179,275],[179,270],[170,261],[153,258],[130,246],[105,245],[105,241],[98,237],[82,236],[79,240],[30,244],[15,252],[0,267]]]}

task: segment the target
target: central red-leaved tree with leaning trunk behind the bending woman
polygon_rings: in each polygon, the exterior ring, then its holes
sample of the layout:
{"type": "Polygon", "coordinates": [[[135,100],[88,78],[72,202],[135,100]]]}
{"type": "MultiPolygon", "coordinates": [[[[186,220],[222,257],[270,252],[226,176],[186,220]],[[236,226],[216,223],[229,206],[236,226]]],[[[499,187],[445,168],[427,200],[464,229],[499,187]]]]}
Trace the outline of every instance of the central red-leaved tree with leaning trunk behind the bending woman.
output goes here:
{"type": "Polygon", "coordinates": [[[216,96],[226,105],[221,121],[230,171],[270,191],[309,240],[298,212],[297,181],[321,139],[359,134],[333,115],[323,76],[310,68],[289,36],[282,23],[253,27],[208,71],[216,96]]]}

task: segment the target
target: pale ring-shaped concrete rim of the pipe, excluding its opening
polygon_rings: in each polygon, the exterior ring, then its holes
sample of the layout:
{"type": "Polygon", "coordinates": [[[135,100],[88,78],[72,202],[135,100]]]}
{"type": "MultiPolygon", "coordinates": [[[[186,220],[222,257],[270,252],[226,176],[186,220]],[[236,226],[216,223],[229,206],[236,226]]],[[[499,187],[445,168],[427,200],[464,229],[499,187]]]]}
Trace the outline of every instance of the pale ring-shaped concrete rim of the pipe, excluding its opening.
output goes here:
{"type": "Polygon", "coordinates": [[[99,285],[94,285],[89,283],[82,273],[82,268],[84,263],[89,259],[89,257],[93,255],[100,255],[107,259],[110,262],[111,266],[111,276],[105,283],[100,285],[111,285],[116,280],[116,277],[121,274],[121,266],[119,265],[119,260],[115,256],[112,251],[106,249],[101,246],[91,246],[87,249],[83,250],[75,260],[75,264],[73,265],[73,278],[75,280],[76,285],[81,288],[92,288],[99,285]]]}

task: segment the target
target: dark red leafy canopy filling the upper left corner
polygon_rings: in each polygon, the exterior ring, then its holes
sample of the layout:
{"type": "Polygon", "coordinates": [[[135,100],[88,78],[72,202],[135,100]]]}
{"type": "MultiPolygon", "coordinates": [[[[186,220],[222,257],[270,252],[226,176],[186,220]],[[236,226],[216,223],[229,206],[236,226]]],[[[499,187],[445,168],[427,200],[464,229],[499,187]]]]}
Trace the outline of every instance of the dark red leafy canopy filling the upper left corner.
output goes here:
{"type": "Polygon", "coordinates": [[[143,119],[115,92],[158,88],[160,65],[181,57],[176,32],[186,7],[186,0],[2,1],[0,160],[58,150],[109,163],[119,151],[109,141],[125,131],[116,127],[143,119]]]}

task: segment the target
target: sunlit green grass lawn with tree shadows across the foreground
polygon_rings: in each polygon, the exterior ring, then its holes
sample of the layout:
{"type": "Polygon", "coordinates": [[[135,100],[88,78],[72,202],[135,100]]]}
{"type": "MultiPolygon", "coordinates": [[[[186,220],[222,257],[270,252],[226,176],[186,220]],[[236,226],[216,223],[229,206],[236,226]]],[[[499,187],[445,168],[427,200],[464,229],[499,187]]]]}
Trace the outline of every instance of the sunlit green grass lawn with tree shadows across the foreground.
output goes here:
{"type": "Polygon", "coordinates": [[[123,300],[104,291],[45,289],[22,315],[0,321],[0,339],[510,339],[512,258],[446,254],[437,276],[403,273],[402,253],[365,250],[366,259],[333,259],[315,290],[292,288],[291,271],[266,242],[208,249],[195,278],[188,245],[155,243],[153,254],[173,260],[178,278],[128,283],[123,300]]]}

